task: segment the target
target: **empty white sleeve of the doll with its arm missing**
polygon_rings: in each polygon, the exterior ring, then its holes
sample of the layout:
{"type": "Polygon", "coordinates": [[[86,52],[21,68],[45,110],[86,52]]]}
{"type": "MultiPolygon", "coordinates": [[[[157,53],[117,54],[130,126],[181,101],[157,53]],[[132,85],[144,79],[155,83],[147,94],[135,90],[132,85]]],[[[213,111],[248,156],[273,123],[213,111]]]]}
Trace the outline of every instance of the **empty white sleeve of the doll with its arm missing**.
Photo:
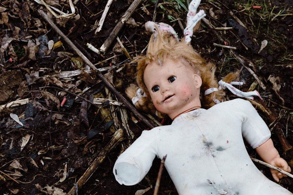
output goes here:
{"type": "Polygon", "coordinates": [[[143,131],[117,159],[113,173],[118,183],[127,186],[139,183],[149,172],[156,156],[156,139],[154,129],[143,131]]]}

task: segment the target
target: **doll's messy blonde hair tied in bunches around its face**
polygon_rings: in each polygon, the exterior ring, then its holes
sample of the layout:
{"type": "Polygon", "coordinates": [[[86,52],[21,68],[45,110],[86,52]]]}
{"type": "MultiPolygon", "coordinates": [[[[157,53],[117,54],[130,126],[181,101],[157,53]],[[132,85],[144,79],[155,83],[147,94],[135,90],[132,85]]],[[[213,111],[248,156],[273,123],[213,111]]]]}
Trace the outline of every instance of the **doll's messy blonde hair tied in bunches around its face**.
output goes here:
{"type": "MultiPolygon", "coordinates": [[[[218,99],[225,101],[225,92],[223,90],[215,91],[208,95],[204,95],[205,90],[209,88],[218,88],[219,84],[215,77],[215,67],[211,63],[207,63],[190,45],[185,41],[177,41],[168,32],[163,32],[156,29],[157,33],[152,34],[147,54],[139,56],[134,59],[137,62],[137,85],[132,84],[126,89],[126,94],[129,98],[136,95],[138,88],[142,88],[145,92],[145,97],[142,97],[135,103],[135,107],[150,114],[157,114],[159,117],[164,117],[165,114],[156,110],[151,100],[149,91],[144,83],[144,70],[146,66],[155,61],[161,64],[167,57],[173,60],[180,60],[184,65],[191,66],[202,79],[202,86],[200,88],[200,101],[202,108],[208,109],[215,105],[213,100],[218,99]]],[[[229,74],[223,81],[230,83],[238,74],[229,74]]]]}

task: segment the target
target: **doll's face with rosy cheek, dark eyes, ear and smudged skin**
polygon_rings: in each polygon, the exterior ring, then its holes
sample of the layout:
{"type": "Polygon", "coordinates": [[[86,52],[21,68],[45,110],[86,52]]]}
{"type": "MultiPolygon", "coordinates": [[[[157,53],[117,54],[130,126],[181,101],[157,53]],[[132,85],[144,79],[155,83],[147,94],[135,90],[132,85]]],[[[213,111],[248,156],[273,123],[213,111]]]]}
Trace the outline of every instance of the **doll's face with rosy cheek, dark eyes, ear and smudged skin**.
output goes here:
{"type": "Polygon", "coordinates": [[[156,109],[171,119],[200,106],[202,80],[191,66],[166,58],[162,65],[151,62],[144,70],[144,83],[156,109]]]}

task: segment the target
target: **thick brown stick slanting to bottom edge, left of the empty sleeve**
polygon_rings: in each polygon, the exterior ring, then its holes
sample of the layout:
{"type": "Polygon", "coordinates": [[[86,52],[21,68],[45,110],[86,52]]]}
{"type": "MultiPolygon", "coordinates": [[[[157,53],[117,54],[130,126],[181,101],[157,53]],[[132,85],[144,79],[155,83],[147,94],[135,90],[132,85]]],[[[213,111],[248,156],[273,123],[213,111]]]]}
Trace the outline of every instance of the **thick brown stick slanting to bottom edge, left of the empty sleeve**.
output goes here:
{"type": "MultiPolygon", "coordinates": [[[[97,156],[97,158],[93,161],[91,166],[88,167],[86,172],[79,178],[79,180],[76,182],[76,185],[78,188],[81,188],[86,181],[93,175],[93,173],[97,170],[98,166],[105,160],[105,158],[108,156],[109,152],[114,149],[122,140],[124,140],[125,137],[123,136],[123,130],[118,129],[111,141],[103,148],[103,150],[100,152],[100,154],[97,156]]],[[[76,189],[75,186],[71,188],[71,190],[67,193],[67,195],[75,195],[76,189]]]]}

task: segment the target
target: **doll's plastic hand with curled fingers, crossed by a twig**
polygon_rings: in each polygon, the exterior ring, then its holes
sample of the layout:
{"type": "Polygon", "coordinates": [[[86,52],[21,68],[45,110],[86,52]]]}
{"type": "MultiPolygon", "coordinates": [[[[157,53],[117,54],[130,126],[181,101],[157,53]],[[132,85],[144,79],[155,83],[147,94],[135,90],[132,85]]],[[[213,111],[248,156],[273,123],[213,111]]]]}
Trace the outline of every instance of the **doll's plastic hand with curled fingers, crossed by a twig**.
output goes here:
{"type": "MultiPolygon", "coordinates": [[[[281,157],[277,157],[277,158],[273,159],[272,162],[270,162],[269,164],[272,166],[275,166],[277,168],[280,168],[284,171],[287,171],[288,173],[291,172],[291,168],[289,167],[288,163],[284,159],[282,159],[281,157]]],[[[271,171],[272,176],[276,182],[279,182],[280,181],[279,179],[281,179],[282,177],[287,177],[287,175],[282,174],[277,170],[270,169],[270,171],[271,171]]]]}

